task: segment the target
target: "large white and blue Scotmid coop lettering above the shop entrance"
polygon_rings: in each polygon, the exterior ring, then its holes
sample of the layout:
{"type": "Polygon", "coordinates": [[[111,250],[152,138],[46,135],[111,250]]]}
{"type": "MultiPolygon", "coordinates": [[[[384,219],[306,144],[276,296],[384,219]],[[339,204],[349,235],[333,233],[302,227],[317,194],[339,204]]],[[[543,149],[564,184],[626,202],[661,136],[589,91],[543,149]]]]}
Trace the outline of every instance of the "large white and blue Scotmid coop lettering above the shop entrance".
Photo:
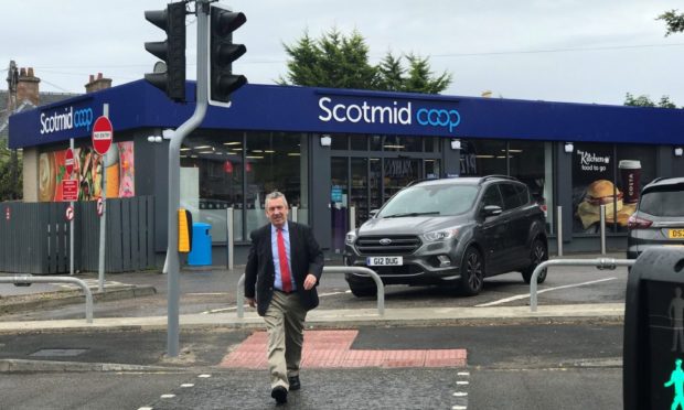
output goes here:
{"type": "Polygon", "coordinates": [[[456,109],[418,107],[414,110],[412,101],[403,105],[398,101],[392,101],[392,105],[372,105],[365,100],[361,104],[342,104],[333,101],[331,97],[321,97],[318,106],[322,111],[318,118],[323,122],[412,126],[416,121],[423,127],[445,128],[448,132],[453,132],[461,123],[461,115],[456,109]]]}

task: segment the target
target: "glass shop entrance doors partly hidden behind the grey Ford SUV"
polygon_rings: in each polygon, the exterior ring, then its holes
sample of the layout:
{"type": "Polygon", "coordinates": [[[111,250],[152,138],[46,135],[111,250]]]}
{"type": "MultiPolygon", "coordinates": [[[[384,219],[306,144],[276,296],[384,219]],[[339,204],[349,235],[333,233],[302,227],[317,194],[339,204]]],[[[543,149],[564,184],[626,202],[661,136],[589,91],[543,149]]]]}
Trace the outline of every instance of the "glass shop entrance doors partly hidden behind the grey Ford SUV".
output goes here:
{"type": "Polygon", "coordinates": [[[331,249],[344,250],[344,237],[350,229],[350,207],[355,211],[355,226],[366,222],[370,212],[409,182],[431,173],[435,160],[409,158],[346,158],[332,157],[330,184],[331,249]]]}

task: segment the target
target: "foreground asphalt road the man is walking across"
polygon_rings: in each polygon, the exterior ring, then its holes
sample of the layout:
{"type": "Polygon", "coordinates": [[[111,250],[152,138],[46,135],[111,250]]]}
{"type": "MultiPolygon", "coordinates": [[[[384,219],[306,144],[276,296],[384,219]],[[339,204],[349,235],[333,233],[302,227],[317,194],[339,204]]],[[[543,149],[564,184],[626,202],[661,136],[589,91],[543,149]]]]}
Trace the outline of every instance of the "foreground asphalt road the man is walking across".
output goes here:
{"type": "MultiPolygon", "coordinates": [[[[620,409],[620,324],[361,327],[352,349],[466,348],[462,368],[302,369],[286,409],[620,409]]],[[[0,358],[131,363],[151,371],[4,374],[8,409],[269,409],[267,370],[217,367],[247,331],[183,332],[185,358],[164,359],[164,332],[0,335],[0,358]],[[51,349],[76,357],[35,356],[51,349]],[[202,376],[202,377],[201,377],[202,376]],[[192,386],[190,386],[192,385],[192,386]],[[162,396],[163,395],[163,396],[162,396]],[[173,396],[169,396],[173,395],[173,396]]]]}

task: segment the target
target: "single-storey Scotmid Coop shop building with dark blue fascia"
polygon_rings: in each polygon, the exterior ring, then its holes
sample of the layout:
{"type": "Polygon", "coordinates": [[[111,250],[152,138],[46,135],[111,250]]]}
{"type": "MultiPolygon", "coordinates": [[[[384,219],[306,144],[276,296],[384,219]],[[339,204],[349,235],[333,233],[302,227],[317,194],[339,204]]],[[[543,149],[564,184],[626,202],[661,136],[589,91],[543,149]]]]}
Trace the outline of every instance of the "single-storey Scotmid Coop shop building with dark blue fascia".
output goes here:
{"type": "MultiPolygon", "coordinates": [[[[99,195],[90,128],[104,104],[117,150],[106,166],[107,195],[154,198],[161,259],[168,141],[150,137],[179,127],[194,105],[172,102],[145,80],[12,116],[10,147],[23,149],[24,175],[39,175],[24,181],[24,201],[61,201],[55,181],[64,177],[60,164],[70,138],[79,159],[72,175],[81,181],[79,196],[99,195]]],[[[546,207],[552,251],[557,206],[565,251],[597,251],[600,204],[607,205],[608,248],[622,250],[634,191],[656,176],[684,175],[682,129],[681,109],[247,85],[231,108],[210,107],[185,139],[181,205],[212,225],[214,265],[225,261],[232,207],[241,263],[249,231],[267,222],[264,197],[279,190],[334,257],[350,225],[362,224],[410,181],[504,174],[526,183],[546,207]]]]}

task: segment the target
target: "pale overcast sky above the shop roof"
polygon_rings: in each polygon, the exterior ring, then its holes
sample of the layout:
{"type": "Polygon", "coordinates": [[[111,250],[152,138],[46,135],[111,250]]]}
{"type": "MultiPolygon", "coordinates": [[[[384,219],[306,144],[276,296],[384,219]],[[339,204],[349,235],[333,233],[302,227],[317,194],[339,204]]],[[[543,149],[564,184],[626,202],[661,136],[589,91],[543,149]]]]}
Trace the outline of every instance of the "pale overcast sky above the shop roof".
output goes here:
{"type": "MultiPolygon", "coordinates": [[[[653,100],[667,95],[684,106],[684,33],[667,37],[655,18],[684,11],[659,0],[232,0],[247,23],[234,35],[247,46],[234,72],[272,84],[286,74],[282,44],[304,30],[318,37],[336,26],[357,30],[371,62],[387,51],[428,56],[436,74],[449,72],[443,93],[617,104],[626,93],[653,100]]],[[[42,91],[83,93],[90,74],[120,85],[152,71],[146,41],[165,34],[145,20],[158,0],[4,1],[0,74],[10,60],[34,67],[42,91]]],[[[194,9],[194,7],[193,7],[194,9]]],[[[188,77],[195,78],[196,24],[188,17],[188,77]]],[[[7,83],[0,87],[7,89],[7,83]]]]}

